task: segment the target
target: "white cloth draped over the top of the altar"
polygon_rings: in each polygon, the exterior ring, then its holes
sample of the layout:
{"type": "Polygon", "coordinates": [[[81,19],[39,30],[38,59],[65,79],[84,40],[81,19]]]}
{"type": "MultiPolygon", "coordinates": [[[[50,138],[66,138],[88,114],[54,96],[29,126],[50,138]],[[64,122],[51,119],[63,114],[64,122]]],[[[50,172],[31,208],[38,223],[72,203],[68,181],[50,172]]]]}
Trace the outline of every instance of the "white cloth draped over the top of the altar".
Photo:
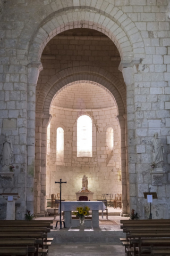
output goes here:
{"type": "MultiPolygon", "coordinates": [[[[69,201],[69,202],[62,202],[62,211],[76,211],[77,207],[84,207],[88,206],[90,211],[104,211],[106,206],[103,202],[100,201],[69,201]]],[[[60,213],[60,205],[58,207],[58,213],[60,213]]]]}

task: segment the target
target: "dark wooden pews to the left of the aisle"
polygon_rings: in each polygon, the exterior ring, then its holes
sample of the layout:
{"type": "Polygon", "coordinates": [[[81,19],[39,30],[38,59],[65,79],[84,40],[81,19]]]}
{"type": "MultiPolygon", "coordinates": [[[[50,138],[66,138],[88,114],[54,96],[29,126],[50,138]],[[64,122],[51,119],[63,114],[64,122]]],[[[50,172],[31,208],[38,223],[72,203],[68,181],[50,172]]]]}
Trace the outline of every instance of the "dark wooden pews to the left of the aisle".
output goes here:
{"type": "Polygon", "coordinates": [[[0,220],[0,255],[46,256],[53,221],[0,220]]]}

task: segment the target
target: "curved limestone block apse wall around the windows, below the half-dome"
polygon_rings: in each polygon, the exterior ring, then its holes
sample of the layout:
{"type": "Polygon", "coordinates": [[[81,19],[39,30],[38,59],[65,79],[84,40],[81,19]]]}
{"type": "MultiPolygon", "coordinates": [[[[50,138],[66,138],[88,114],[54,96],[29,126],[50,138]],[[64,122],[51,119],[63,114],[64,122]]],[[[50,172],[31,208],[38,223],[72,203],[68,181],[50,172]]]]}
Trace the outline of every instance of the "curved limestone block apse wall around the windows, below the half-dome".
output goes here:
{"type": "MultiPolygon", "coordinates": [[[[67,184],[62,188],[66,200],[76,200],[75,193],[82,188],[81,179],[88,176],[89,190],[94,199],[103,198],[102,194],[121,194],[121,138],[120,125],[116,118],[116,108],[79,110],[52,106],[50,121],[50,143],[47,155],[47,198],[50,194],[60,193],[54,183],[62,179],[67,184]],[[92,157],[77,157],[77,118],[80,115],[92,118],[92,157]],[[114,129],[114,150],[111,153],[106,146],[106,129],[114,129]],[[64,129],[64,166],[56,165],[56,129],[64,129]]],[[[48,134],[49,136],[49,134],[48,134]]]]}

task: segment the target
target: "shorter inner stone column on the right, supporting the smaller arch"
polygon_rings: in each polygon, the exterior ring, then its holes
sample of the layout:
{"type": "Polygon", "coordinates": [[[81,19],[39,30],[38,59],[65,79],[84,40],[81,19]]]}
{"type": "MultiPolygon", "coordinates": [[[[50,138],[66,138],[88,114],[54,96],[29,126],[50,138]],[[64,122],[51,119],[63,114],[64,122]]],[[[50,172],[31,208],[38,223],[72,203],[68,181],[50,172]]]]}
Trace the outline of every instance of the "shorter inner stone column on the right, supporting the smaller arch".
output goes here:
{"type": "Polygon", "coordinates": [[[121,216],[127,215],[127,161],[126,161],[126,115],[117,116],[121,127],[121,170],[122,170],[122,212],[121,216]]]}

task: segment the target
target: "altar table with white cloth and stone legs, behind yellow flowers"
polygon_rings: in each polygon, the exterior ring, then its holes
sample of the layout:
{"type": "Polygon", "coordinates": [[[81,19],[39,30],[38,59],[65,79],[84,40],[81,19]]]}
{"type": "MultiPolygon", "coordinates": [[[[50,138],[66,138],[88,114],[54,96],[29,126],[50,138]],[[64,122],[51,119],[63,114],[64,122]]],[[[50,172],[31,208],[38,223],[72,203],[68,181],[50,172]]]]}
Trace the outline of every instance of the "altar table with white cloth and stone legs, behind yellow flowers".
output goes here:
{"type": "MultiPolygon", "coordinates": [[[[106,206],[100,201],[69,201],[62,202],[62,211],[64,212],[65,227],[71,227],[71,212],[76,211],[77,207],[88,206],[92,211],[92,227],[99,227],[99,210],[104,211],[106,206]]],[[[58,207],[60,213],[60,205],[58,207]]]]}

